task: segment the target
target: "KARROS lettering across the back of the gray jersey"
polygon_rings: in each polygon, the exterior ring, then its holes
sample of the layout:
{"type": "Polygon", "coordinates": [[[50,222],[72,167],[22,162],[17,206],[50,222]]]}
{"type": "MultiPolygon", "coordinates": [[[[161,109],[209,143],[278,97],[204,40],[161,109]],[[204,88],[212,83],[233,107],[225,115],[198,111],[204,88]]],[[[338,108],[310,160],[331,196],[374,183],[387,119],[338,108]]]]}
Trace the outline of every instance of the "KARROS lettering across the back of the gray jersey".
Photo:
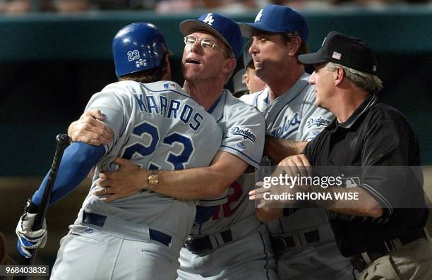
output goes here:
{"type": "Polygon", "coordinates": [[[162,95],[133,95],[140,111],[150,114],[160,114],[164,118],[180,119],[184,123],[189,123],[189,127],[196,131],[201,126],[204,117],[196,112],[189,104],[179,102],[178,100],[169,99],[162,95]],[[159,103],[157,102],[159,99],[159,103]]]}

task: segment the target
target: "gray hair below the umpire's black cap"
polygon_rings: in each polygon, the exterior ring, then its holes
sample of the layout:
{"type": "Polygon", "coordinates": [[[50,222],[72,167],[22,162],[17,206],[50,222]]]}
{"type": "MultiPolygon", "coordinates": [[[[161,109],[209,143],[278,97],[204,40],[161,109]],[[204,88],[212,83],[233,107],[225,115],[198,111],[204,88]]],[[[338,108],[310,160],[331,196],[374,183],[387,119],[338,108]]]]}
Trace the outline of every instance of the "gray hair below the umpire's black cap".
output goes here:
{"type": "Polygon", "coordinates": [[[354,83],[354,85],[360,87],[366,92],[376,93],[383,89],[383,82],[376,75],[357,71],[353,68],[332,62],[328,62],[325,67],[327,67],[329,71],[336,71],[336,69],[339,67],[342,68],[344,70],[345,77],[354,83]]]}

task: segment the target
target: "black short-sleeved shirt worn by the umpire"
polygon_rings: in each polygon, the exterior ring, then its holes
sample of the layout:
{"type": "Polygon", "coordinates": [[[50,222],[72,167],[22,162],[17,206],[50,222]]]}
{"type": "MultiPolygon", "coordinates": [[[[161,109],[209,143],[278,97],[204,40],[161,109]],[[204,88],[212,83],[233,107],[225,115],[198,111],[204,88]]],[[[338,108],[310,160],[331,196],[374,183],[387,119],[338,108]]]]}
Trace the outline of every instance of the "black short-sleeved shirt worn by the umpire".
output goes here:
{"type": "MultiPolygon", "coordinates": [[[[306,145],[304,154],[313,166],[361,166],[364,169],[364,166],[420,165],[419,145],[409,123],[396,109],[378,103],[375,95],[364,100],[344,123],[338,123],[337,119],[332,121],[306,145]]],[[[378,177],[365,178],[362,174],[360,187],[382,205],[382,217],[373,219],[328,212],[337,245],[345,257],[421,231],[426,224],[428,211],[422,182],[406,180],[406,183],[389,184],[378,177]],[[401,196],[404,201],[412,200],[420,206],[397,207],[401,196]]]]}

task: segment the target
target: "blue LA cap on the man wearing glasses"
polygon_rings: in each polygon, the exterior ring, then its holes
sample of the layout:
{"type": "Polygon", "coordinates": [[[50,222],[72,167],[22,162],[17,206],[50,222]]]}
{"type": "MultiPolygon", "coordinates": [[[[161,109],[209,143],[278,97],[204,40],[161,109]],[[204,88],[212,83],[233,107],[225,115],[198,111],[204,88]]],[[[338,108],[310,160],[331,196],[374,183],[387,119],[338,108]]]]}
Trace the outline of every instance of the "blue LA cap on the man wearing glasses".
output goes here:
{"type": "Polygon", "coordinates": [[[239,25],[220,13],[205,13],[198,20],[183,20],[180,25],[180,32],[187,36],[196,30],[207,30],[232,49],[236,58],[241,54],[241,32],[239,25]]]}

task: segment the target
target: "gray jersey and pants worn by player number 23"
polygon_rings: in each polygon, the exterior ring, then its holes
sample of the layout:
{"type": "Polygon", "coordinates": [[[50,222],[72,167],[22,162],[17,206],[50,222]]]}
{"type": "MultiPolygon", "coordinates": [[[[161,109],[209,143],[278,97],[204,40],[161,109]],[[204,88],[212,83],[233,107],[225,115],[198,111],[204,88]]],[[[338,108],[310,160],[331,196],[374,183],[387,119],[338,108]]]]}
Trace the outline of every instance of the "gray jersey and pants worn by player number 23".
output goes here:
{"type": "MultiPolygon", "coordinates": [[[[100,109],[104,123],[114,132],[106,146],[107,154],[97,163],[92,188],[101,170],[116,169],[112,164],[115,157],[131,159],[143,169],[189,169],[208,166],[220,149],[222,129],[215,118],[170,81],[113,83],[93,95],[86,109],[100,109]]],[[[66,260],[78,254],[91,255],[94,260],[105,256],[106,265],[93,267],[101,275],[115,267],[117,279],[174,279],[179,250],[195,215],[195,201],[150,191],[109,203],[89,193],[71,232],[61,243],[53,275],[61,279],[76,269],[66,260]],[[96,241],[103,244],[88,245],[96,241]],[[111,248],[113,259],[107,256],[107,248],[111,248]],[[111,264],[117,258],[116,264],[111,264]]],[[[85,276],[73,271],[73,279],[92,279],[85,264],[78,267],[85,276]]]]}

